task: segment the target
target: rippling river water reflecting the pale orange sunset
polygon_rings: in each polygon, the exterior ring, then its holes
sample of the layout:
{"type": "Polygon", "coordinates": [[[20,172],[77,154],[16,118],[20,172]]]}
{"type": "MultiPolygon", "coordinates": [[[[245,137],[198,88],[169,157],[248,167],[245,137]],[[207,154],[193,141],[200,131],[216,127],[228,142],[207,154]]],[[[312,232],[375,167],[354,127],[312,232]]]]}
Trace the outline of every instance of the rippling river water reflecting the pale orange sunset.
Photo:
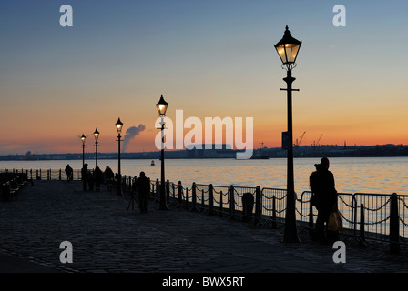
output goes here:
{"type": "MultiPolygon", "coordinates": [[[[408,157],[331,158],[336,188],[342,193],[398,193],[408,195],[408,157]]],[[[145,171],[152,179],[160,177],[160,161],[122,160],[122,174],[138,176],[145,171]]],[[[297,193],[309,190],[309,175],[320,158],[295,158],[295,188],[297,193]]],[[[59,161],[0,161],[1,168],[64,169],[69,164],[82,167],[82,160],[59,161]]],[[[89,168],[95,160],[87,161],[89,168]]],[[[110,166],[117,171],[117,160],[98,160],[102,170],[110,166]]],[[[192,182],[219,186],[260,186],[286,188],[286,159],[168,159],[166,179],[189,186],[192,182]]]]}

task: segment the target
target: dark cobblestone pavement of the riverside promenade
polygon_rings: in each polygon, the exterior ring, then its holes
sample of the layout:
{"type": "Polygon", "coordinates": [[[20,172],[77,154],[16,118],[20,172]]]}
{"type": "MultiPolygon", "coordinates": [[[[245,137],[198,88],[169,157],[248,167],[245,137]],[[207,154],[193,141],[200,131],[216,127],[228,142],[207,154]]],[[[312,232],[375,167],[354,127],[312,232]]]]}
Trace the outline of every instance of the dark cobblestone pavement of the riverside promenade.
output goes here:
{"type": "Polygon", "coordinates": [[[35,181],[0,202],[0,272],[384,273],[407,272],[408,258],[387,246],[283,244],[282,231],[170,207],[128,210],[129,197],[82,191],[80,181],[35,181]],[[60,243],[73,246],[62,264],[60,243]]]}

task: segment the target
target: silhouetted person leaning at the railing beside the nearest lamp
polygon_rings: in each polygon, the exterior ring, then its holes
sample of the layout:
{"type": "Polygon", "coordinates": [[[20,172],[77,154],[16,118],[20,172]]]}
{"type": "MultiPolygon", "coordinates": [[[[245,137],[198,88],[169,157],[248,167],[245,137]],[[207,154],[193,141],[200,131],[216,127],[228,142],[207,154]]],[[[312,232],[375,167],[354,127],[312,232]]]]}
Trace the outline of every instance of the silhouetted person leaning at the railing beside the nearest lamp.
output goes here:
{"type": "Polygon", "coordinates": [[[327,230],[329,216],[337,209],[337,190],[334,176],[329,171],[330,162],[327,157],[321,158],[321,164],[315,164],[316,171],[311,173],[309,183],[311,186],[311,205],[318,211],[316,229],[313,239],[321,243],[330,243],[338,234],[332,234],[327,230]]]}

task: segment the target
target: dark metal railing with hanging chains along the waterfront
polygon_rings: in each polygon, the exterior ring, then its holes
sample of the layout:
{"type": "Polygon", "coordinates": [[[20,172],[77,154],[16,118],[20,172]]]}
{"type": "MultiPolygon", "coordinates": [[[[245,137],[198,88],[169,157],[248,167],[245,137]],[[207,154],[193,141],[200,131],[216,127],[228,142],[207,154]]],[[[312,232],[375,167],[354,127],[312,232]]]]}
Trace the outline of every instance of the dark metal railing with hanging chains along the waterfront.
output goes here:
{"type": "MultiPolygon", "coordinates": [[[[5,173],[26,173],[28,179],[66,180],[64,170],[57,169],[5,169],[5,173]]],[[[74,170],[74,179],[81,179],[81,171],[74,170]]],[[[135,191],[135,177],[123,176],[122,188],[135,191]]],[[[159,200],[159,180],[150,181],[151,199],[159,200]]],[[[115,185],[114,185],[115,186],[115,185]]],[[[213,186],[196,184],[183,186],[166,182],[168,203],[201,213],[226,216],[229,219],[250,220],[256,225],[272,228],[284,226],[286,189],[259,186],[213,186]]],[[[314,228],[317,214],[311,206],[311,191],[296,195],[296,216],[302,230],[314,228]]],[[[338,208],[342,214],[342,235],[362,245],[370,242],[390,244],[393,253],[400,246],[408,246],[408,196],[397,194],[339,193],[338,208]]]]}

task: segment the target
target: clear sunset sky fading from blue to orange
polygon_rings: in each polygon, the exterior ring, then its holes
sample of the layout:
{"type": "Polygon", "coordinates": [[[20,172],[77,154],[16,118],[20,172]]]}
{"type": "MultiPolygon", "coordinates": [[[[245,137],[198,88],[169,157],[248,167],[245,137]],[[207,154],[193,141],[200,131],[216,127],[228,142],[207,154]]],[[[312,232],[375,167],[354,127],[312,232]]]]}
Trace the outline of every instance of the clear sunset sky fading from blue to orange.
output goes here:
{"type": "Polygon", "coordinates": [[[2,0],[0,155],[79,153],[82,134],[92,152],[96,127],[98,150],[115,152],[117,117],[145,125],[128,152],[157,150],[160,95],[170,118],[253,117],[254,147],[280,146],[285,25],[302,41],[294,140],[407,145],[407,14],[406,0],[2,0]]]}

